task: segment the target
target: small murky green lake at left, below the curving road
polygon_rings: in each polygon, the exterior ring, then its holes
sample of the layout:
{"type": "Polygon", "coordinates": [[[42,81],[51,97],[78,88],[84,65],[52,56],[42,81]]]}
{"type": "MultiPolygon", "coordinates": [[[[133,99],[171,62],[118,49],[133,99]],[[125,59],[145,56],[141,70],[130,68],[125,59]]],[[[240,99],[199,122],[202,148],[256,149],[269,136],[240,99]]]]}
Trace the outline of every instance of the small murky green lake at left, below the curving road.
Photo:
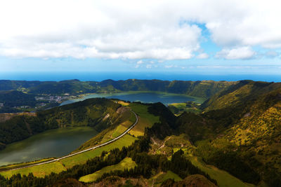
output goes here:
{"type": "Polygon", "coordinates": [[[41,158],[61,157],[74,151],[96,134],[98,132],[92,127],[47,130],[6,146],[0,151],[0,166],[41,158]]]}

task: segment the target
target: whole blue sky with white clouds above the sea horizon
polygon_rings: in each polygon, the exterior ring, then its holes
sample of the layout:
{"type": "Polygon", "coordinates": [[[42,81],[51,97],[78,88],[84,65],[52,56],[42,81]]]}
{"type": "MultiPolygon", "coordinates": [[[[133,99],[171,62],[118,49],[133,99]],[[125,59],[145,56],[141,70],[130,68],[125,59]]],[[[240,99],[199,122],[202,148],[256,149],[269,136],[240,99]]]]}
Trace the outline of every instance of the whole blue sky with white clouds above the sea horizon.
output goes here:
{"type": "Polygon", "coordinates": [[[280,7],[277,0],[3,0],[0,78],[22,72],[281,76],[280,7]]]}

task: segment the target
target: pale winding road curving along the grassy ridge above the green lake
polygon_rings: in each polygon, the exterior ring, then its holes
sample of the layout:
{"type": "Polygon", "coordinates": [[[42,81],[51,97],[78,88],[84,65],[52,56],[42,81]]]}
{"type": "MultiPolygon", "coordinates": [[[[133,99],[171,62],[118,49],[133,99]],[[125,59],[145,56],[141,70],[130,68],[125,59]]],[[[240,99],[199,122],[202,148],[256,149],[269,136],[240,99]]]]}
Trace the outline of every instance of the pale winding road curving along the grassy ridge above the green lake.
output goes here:
{"type": "Polygon", "coordinates": [[[83,151],[79,151],[77,153],[72,153],[70,155],[66,155],[66,156],[63,156],[63,157],[60,157],[60,158],[55,158],[53,160],[49,160],[49,161],[46,161],[46,162],[40,162],[40,163],[37,163],[37,164],[34,164],[34,165],[27,165],[27,166],[23,166],[23,167],[17,167],[17,168],[13,168],[13,169],[7,169],[5,171],[11,171],[11,170],[15,170],[15,169],[22,169],[22,168],[27,168],[27,167],[33,167],[33,166],[36,166],[36,165],[44,165],[44,164],[48,164],[48,163],[51,163],[51,162],[56,162],[58,160],[62,160],[64,158],[68,158],[68,157],[71,157],[71,156],[74,156],[74,155],[78,155],[78,154],[81,154],[81,153],[84,153],[86,151],[91,151],[95,148],[99,148],[101,146],[106,146],[107,144],[111,144],[113,141],[116,141],[117,139],[120,139],[122,137],[124,137],[125,134],[127,134],[133,127],[136,126],[136,124],[138,123],[138,116],[136,115],[136,113],[134,111],[131,111],[135,116],[136,116],[136,122],[133,123],[133,125],[131,125],[131,127],[129,127],[125,132],[123,132],[122,134],[120,134],[118,137],[116,137],[115,139],[111,139],[110,141],[106,141],[105,143],[103,144],[100,144],[98,146],[93,146],[91,148],[87,148],[83,151]]]}

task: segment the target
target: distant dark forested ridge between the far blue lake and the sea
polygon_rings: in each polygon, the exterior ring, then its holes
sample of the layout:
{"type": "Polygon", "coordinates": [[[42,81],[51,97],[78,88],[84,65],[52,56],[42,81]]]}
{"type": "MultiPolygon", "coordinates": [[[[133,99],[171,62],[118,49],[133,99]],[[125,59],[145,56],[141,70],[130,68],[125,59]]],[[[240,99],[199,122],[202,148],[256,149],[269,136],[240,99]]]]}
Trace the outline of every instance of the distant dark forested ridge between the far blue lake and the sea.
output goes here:
{"type": "Polygon", "coordinates": [[[160,81],[138,80],[126,81],[0,81],[0,90],[20,90],[37,95],[60,95],[69,93],[78,95],[93,92],[159,91],[185,94],[208,98],[226,90],[237,82],[227,81],[160,81]]]}

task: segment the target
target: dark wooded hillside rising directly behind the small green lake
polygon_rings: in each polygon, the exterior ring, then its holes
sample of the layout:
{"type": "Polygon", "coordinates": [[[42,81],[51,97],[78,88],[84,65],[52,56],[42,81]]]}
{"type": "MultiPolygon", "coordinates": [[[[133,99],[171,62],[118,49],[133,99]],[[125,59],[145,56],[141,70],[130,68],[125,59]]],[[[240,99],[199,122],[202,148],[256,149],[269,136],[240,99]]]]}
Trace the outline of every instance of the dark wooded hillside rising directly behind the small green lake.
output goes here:
{"type": "Polygon", "coordinates": [[[110,99],[95,98],[39,111],[36,116],[14,116],[0,123],[0,142],[11,144],[44,130],[68,126],[91,126],[100,132],[125,120],[117,113],[119,107],[121,104],[110,99]]]}

